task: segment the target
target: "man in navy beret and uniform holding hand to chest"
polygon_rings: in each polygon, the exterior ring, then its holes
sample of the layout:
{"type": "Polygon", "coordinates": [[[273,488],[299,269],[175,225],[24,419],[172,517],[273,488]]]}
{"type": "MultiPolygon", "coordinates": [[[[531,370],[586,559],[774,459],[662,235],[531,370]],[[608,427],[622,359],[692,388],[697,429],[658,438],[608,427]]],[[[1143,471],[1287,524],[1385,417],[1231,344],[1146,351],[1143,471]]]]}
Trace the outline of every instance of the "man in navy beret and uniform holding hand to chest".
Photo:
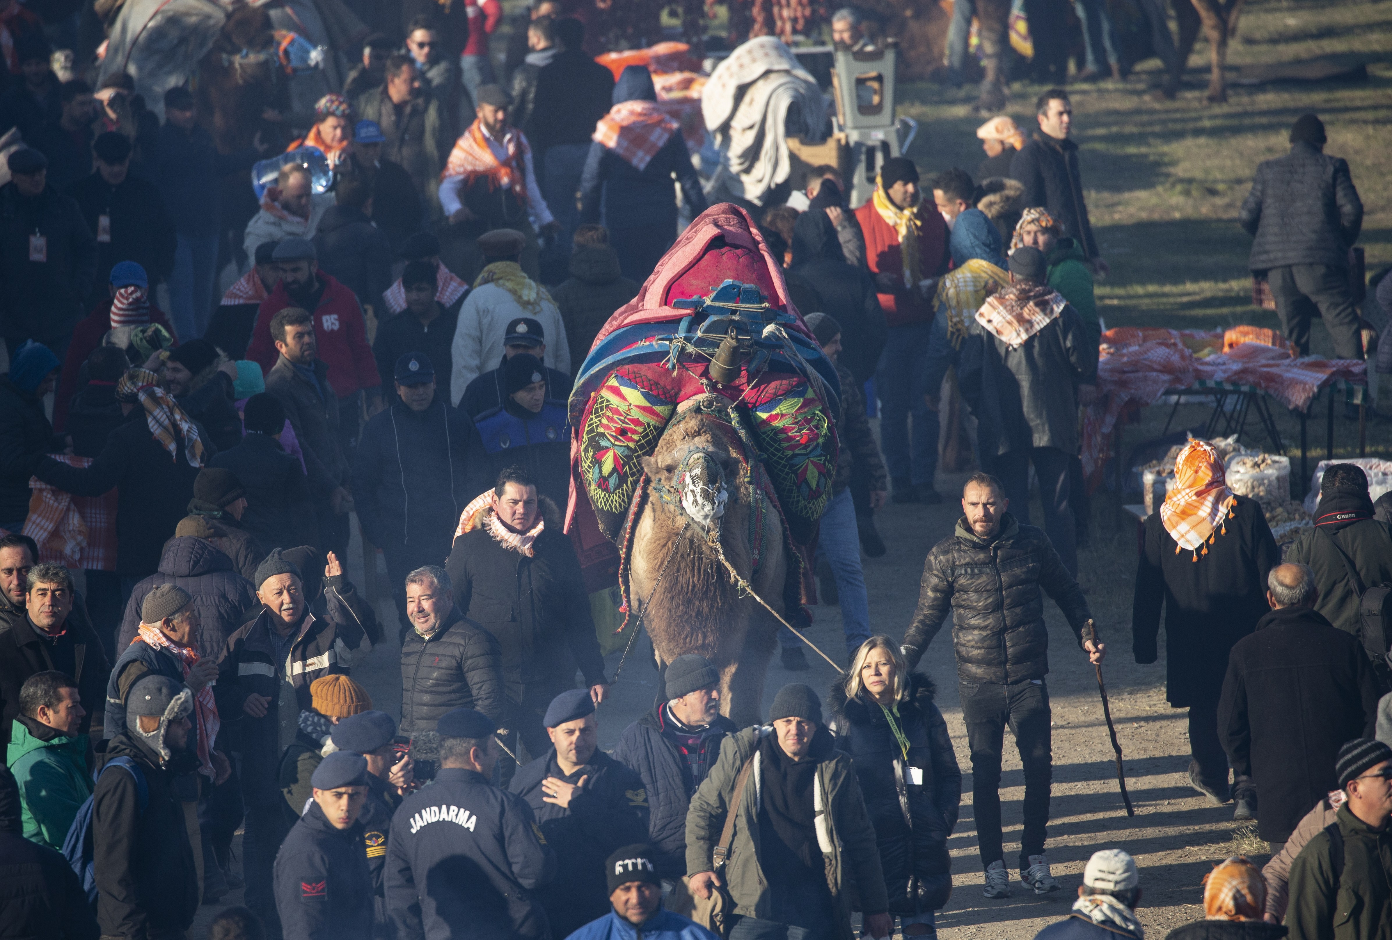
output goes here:
{"type": "Polygon", "coordinates": [[[551,748],[512,777],[567,877],[543,898],[551,934],[565,937],[606,912],[601,859],[647,838],[647,791],[633,770],[599,749],[587,688],[551,701],[541,719],[551,748]]]}

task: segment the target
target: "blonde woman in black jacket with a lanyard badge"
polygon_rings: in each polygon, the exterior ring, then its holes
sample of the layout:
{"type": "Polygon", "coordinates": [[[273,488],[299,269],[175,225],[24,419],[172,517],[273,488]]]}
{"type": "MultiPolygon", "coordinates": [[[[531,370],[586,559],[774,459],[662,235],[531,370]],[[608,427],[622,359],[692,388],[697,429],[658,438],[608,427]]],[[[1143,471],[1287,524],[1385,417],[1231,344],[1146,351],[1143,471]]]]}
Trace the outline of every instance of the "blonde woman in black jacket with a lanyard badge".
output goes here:
{"type": "Polygon", "coordinates": [[[910,673],[889,637],[870,637],[831,687],[831,730],[851,755],[874,823],[889,914],[905,937],[937,936],[933,912],[952,896],[948,836],[962,798],[935,688],[910,673]]]}

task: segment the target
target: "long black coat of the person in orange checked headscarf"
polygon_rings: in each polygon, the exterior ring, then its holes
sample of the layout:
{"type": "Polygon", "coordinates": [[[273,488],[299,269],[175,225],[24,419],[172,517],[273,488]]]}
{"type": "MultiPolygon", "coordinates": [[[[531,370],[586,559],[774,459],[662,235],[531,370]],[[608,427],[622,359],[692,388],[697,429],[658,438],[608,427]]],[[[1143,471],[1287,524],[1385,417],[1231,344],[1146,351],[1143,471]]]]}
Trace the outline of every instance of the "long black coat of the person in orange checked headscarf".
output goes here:
{"type": "MultiPolygon", "coordinates": [[[[1165,606],[1165,680],[1175,708],[1217,704],[1232,645],[1257,627],[1270,610],[1267,573],[1281,563],[1281,549],[1267,527],[1261,503],[1237,496],[1208,553],[1175,553],[1160,512],[1146,520],[1146,545],[1136,570],[1132,645],[1136,662],[1160,658],[1160,608],[1165,606]]],[[[1203,549],[1200,549],[1203,551],[1203,549]]]]}

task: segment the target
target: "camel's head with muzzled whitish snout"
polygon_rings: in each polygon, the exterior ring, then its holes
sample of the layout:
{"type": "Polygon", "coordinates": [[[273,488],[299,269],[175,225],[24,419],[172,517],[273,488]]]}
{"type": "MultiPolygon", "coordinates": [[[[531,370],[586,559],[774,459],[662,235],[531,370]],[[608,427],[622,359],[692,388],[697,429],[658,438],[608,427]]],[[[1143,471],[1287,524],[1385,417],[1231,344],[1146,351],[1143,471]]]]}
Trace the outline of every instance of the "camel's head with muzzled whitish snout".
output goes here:
{"type": "Polygon", "coordinates": [[[674,510],[681,506],[681,512],[704,531],[720,526],[739,470],[725,435],[711,427],[714,421],[699,414],[675,423],[663,435],[657,452],[643,457],[657,498],[674,510]]]}

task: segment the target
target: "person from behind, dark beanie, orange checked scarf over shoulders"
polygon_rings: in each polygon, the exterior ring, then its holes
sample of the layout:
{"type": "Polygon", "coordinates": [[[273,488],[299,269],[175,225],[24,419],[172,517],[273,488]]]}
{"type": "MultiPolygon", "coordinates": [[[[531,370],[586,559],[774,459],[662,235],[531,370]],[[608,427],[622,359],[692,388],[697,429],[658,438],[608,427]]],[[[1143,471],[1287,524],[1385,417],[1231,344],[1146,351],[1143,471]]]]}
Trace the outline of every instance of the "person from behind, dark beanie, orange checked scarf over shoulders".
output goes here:
{"type": "Polygon", "coordinates": [[[692,217],[706,211],[706,196],[681,125],[657,106],[647,67],[626,67],[612,100],[594,125],[580,177],[580,221],[600,222],[603,216],[624,277],[642,284],[677,241],[672,178],[692,217]]]}

